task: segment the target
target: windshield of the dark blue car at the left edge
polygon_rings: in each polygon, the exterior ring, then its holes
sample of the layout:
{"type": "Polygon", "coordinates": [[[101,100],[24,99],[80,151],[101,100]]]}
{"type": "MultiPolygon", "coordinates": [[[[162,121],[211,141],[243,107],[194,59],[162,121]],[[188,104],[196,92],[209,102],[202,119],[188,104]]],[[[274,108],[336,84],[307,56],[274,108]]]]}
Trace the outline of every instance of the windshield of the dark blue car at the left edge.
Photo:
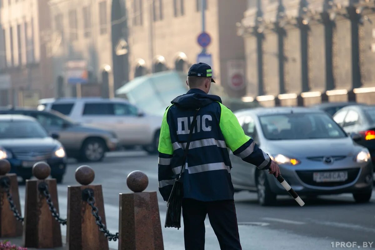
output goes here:
{"type": "Polygon", "coordinates": [[[45,137],[47,133],[36,121],[0,121],[0,139],[45,137]]]}

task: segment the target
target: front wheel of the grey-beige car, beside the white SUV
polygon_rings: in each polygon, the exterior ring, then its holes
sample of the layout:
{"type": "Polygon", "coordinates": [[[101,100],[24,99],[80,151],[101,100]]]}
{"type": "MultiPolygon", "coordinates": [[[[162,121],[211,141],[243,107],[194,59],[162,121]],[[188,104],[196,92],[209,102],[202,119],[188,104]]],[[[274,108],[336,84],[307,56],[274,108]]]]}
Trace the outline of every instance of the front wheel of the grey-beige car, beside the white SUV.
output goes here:
{"type": "Polygon", "coordinates": [[[82,159],[89,162],[99,162],[105,154],[105,144],[101,139],[88,139],[82,146],[82,159]]]}

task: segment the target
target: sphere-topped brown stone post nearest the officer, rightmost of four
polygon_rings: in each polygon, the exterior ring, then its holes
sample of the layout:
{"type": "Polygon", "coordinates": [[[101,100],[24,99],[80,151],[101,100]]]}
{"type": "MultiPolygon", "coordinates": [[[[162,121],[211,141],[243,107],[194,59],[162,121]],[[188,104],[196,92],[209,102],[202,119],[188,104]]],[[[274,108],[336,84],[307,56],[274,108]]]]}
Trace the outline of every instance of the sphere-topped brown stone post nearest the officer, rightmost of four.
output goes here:
{"type": "Polygon", "coordinates": [[[163,250],[156,192],[143,192],[148,177],[141,171],[131,172],[126,184],[134,193],[120,193],[119,250],[163,250]]]}

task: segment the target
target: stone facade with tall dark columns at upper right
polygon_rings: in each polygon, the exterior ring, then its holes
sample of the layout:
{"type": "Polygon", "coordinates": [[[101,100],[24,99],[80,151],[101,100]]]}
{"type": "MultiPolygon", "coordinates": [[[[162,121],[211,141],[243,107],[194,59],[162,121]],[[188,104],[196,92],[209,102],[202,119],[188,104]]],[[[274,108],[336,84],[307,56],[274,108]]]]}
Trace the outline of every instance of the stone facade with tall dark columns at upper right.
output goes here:
{"type": "Polygon", "coordinates": [[[247,100],[375,103],[374,0],[248,0],[247,100]]]}

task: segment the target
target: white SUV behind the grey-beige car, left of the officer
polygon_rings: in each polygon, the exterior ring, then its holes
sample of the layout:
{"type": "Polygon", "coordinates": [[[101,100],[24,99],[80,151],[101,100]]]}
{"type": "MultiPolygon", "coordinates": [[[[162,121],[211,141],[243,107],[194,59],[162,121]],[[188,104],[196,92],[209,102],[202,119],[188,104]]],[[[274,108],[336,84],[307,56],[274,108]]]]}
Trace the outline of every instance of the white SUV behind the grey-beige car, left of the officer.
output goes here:
{"type": "Polygon", "coordinates": [[[139,145],[149,153],[157,153],[162,116],[146,114],[125,99],[42,99],[37,109],[55,110],[68,115],[76,122],[113,130],[121,146],[139,145]]]}

